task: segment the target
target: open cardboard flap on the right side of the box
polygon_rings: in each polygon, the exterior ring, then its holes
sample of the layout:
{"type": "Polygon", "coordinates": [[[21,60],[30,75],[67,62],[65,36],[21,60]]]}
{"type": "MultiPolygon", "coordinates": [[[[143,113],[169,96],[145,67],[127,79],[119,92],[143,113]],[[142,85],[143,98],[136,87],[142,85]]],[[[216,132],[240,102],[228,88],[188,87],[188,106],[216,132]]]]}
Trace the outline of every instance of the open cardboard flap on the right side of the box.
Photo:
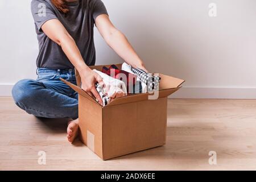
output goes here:
{"type": "Polygon", "coordinates": [[[159,82],[159,90],[177,88],[185,81],[179,78],[163,75],[161,73],[159,73],[159,76],[161,77],[159,82]]]}

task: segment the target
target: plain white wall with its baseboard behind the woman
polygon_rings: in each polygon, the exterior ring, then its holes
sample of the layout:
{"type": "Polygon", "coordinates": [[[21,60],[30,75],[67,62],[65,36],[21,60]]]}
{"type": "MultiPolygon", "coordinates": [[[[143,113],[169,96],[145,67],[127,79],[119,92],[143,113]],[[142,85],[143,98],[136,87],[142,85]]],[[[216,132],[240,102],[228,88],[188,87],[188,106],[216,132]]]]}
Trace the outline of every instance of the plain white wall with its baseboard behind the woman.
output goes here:
{"type": "MultiPolygon", "coordinates": [[[[256,98],[255,0],[103,0],[152,72],[185,78],[176,97],[256,98]],[[208,15],[209,3],[217,17],[208,15]]],[[[0,0],[0,95],[35,78],[30,0],[0,0]]],[[[96,30],[97,64],[122,60],[96,30]]]]}

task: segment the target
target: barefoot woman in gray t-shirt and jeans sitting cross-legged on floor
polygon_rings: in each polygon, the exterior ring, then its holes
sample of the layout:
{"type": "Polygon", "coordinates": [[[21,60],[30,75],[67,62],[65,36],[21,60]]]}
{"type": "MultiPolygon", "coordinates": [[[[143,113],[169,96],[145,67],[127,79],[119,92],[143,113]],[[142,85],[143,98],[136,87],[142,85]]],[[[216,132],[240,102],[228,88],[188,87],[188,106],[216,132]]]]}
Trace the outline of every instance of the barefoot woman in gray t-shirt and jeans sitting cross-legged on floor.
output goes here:
{"type": "Polygon", "coordinates": [[[101,0],[32,0],[31,11],[39,42],[38,78],[17,82],[13,98],[16,105],[36,117],[71,118],[67,138],[72,143],[79,129],[77,93],[59,78],[76,84],[76,68],[82,89],[102,104],[95,88],[96,82],[104,85],[102,78],[88,67],[96,61],[94,24],[126,63],[146,69],[125,35],[110,22],[101,0]]]}

